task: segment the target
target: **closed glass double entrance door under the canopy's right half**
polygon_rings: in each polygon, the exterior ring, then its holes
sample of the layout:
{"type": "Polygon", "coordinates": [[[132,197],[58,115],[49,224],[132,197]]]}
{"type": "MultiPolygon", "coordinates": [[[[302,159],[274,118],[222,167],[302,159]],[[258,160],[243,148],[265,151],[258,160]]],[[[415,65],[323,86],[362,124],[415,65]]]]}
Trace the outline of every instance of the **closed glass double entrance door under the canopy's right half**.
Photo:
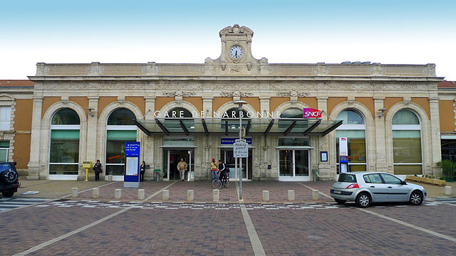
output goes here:
{"type": "Polygon", "coordinates": [[[309,150],[279,150],[279,180],[309,181],[309,150]]]}

